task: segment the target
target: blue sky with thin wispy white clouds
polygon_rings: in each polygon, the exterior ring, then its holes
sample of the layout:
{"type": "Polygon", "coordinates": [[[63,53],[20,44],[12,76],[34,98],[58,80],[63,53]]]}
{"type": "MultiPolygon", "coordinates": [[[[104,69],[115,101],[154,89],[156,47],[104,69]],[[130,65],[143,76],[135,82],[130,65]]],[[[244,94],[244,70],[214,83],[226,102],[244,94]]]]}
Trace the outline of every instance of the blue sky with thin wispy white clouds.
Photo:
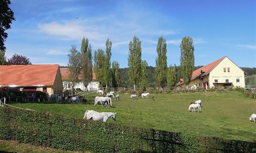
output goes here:
{"type": "Polygon", "coordinates": [[[163,36],[167,65],[180,65],[180,42],[192,37],[195,66],[224,56],[240,67],[256,67],[256,1],[11,0],[15,21],[7,30],[6,56],[32,64],[67,66],[71,45],[83,37],[94,51],[112,41],[111,61],[127,67],[129,42],[141,41],[142,60],[156,65],[163,36]]]}

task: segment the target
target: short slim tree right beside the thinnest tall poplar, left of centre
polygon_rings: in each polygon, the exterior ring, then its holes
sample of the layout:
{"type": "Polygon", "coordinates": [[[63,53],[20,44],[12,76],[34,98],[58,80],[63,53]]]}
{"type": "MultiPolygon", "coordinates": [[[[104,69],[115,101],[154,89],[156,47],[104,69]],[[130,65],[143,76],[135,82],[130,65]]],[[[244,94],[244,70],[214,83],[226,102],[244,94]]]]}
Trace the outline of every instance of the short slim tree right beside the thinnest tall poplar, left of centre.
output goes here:
{"type": "Polygon", "coordinates": [[[117,61],[112,62],[112,87],[117,88],[121,85],[120,68],[117,61]]]}

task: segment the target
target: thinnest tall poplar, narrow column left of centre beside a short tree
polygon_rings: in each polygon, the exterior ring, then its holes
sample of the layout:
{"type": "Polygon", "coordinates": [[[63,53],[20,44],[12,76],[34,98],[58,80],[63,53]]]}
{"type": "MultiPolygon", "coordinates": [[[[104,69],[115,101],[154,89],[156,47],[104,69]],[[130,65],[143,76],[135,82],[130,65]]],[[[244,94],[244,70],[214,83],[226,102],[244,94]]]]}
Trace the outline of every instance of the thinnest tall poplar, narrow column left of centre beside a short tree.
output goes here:
{"type": "Polygon", "coordinates": [[[105,54],[105,60],[104,60],[104,84],[106,85],[106,88],[108,88],[108,84],[111,80],[111,47],[112,47],[112,41],[108,38],[106,40],[106,54],[105,54]]]}

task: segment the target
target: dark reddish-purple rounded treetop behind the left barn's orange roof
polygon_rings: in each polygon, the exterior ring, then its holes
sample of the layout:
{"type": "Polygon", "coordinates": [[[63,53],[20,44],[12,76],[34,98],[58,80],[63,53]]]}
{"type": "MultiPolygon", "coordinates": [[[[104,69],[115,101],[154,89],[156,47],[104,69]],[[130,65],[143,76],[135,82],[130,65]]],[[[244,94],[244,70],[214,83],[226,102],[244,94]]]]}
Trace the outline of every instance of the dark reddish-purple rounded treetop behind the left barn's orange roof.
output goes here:
{"type": "Polygon", "coordinates": [[[29,58],[23,55],[14,54],[8,61],[6,65],[31,65],[29,58]]]}

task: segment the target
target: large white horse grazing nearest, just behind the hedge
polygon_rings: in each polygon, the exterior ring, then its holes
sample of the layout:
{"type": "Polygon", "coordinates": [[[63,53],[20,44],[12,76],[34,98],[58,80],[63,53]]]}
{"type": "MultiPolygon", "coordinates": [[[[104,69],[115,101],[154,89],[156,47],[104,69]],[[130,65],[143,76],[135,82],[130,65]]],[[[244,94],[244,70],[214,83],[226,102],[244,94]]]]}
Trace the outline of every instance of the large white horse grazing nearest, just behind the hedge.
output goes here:
{"type": "Polygon", "coordinates": [[[116,113],[112,113],[112,112],[99,113],[94,110],[88,110],[86,111],[86,113],[84,113],[83,119],[84,118],[103,121],[103,122],[106,122],[110,118],[113,118],[114,121],[116,121],[116,113]]]}

